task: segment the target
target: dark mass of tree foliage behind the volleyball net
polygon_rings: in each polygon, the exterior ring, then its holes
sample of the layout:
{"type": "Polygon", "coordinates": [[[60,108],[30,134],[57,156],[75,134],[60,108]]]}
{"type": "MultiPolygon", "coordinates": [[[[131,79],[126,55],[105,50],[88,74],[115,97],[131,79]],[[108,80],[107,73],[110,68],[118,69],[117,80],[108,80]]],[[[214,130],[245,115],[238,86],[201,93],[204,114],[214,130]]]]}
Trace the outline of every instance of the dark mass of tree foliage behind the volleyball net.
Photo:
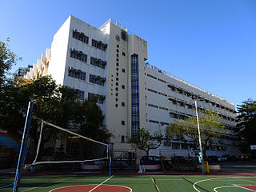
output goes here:
{"type": "Polygon", "coordinates": [[[38,139],[38,119],[64,128],[73,128],[89,138],[108,141],[110,134],[101,129],[102,110],[96,100],[78,101],[75,91],[59,86],[50,76],[34,81],[19,79],[0,91],[0,129],[19,132],[24,126],[28,102],[34,102],[30,136],[38,139]]]}

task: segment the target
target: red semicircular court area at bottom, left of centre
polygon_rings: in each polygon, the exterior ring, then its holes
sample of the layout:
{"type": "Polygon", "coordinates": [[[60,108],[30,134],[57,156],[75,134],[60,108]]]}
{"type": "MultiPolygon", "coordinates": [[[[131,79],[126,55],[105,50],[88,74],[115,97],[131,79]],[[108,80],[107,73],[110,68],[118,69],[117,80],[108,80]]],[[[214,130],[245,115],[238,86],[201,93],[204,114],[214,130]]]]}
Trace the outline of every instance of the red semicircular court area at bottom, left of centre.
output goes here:
{"type": "Polygon", "coordinates": [[[132,190],[126,186],[110,186],[110,185],[86,185],[86,186],[65,186],[62,188],[50,190],[49,192],[131,192],[132,190]],[[95,188],[95,189],[94,189],[95,188]],[[94,189],[94,190],[93,190],[94,189]]]}

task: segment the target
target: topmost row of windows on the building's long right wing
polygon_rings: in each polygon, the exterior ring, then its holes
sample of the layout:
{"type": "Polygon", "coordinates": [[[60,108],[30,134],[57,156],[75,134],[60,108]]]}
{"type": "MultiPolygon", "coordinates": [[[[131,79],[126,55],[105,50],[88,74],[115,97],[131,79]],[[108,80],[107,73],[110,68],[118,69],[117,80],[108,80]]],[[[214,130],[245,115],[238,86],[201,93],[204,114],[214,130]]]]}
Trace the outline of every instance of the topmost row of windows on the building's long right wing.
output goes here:
{"type": "MultiPolygon", "coordinates": [[[[155,80],[158,80],[160,82],[164,82],[164,83],[167,83],[165,80],[162,80],[161,78],[156,78],[154,77],[153,75],[151,74],[147,74],[148,77],[150,78],[154,78],[155,80]]],[[[212,106],[216,106],[217,108],[220,108],[222,110],[227,110],[227,111],[230,111],[231,113],[234,113],[236,114],[236,111],[235,110],[232,110],[226,106],[222,106],[220,104],[218,104],[217,102],[213,102],[213,101],[209,101],[208,99],[206,98],[202,98],[202,96],[200,95],[196,95],[196,94],[193,94],[193,93],[190,93],[190,91],[188,90],[183,90],[181,87],[178,87],[178,86],[174,86],[173,84],[168,84],[167,85],[168,88],[178,94],[182,94],[182,95],[185,95],[186,97],[189,97],[189,98],[192,98],[192,99],[198,99],[200,101],[203,101],[203,102],[206,102],[206,103],[210,103],[210,105],[212,106]]]]}

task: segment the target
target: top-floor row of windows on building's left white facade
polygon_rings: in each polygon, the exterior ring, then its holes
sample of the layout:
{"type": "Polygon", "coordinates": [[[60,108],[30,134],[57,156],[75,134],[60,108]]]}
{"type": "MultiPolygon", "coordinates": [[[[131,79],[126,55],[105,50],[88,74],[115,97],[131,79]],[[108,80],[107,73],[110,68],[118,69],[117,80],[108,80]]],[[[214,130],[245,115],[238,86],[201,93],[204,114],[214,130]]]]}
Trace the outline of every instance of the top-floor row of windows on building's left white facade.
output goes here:
{"type": "MultiPolygon", "coordinates": [[[[78,30],[73,30],[73,38],[78,39],[81,42],[85,42],[85,43],[89,43],[89,37],[86,36],[84,33],[82,32],[78,32],[78,30]]],[[[102,41],[97,41],[95,39],[92,38],[91,40],[91,46],[94,46],[100,50],[106,50],[107,44],[103,43],[102,41]]]]}

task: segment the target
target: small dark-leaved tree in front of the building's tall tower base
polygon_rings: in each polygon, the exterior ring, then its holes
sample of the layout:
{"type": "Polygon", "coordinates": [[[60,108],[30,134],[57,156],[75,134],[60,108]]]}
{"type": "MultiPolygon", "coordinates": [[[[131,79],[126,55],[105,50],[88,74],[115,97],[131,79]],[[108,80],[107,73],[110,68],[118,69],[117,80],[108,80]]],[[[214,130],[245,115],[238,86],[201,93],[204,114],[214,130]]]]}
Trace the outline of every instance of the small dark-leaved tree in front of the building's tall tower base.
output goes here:
{"type": "Polygon", "coordinates": [[[150,150],[156,150],[161,146],[163,140],[162,132],[159,130],[153,135],[148,130],[141,128],[130,138],[130,143],[135,149],[144,150],[148,158],[150,150]]]}

